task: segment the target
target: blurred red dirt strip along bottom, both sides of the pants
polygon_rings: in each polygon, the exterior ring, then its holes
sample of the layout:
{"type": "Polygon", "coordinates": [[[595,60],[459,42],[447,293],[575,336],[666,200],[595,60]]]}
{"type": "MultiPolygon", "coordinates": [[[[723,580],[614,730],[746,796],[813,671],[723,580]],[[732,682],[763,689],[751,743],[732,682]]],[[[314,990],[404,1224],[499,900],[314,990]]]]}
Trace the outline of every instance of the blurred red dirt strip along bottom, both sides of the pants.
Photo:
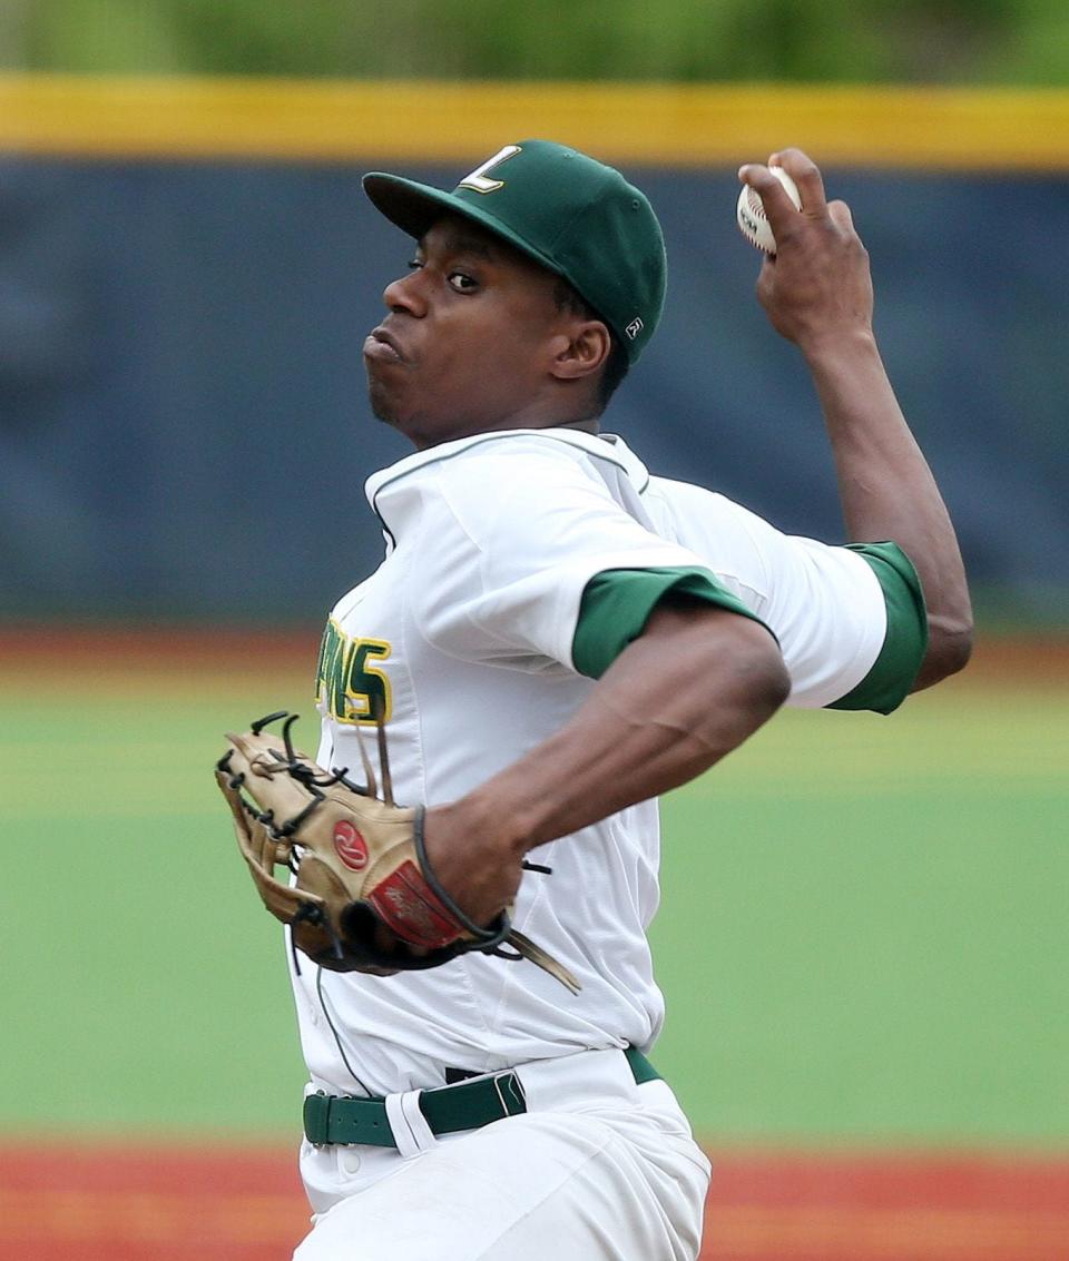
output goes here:
{"type": "MultiPolygon", "coordinates": [[[[1069,1261],[1069,1159],[714,1163],[702,1261],[1069,1261]]],[[[0,1261],[279,1261],[307,1221],[276,1148],[0,1148],[0,1261]]]]}

